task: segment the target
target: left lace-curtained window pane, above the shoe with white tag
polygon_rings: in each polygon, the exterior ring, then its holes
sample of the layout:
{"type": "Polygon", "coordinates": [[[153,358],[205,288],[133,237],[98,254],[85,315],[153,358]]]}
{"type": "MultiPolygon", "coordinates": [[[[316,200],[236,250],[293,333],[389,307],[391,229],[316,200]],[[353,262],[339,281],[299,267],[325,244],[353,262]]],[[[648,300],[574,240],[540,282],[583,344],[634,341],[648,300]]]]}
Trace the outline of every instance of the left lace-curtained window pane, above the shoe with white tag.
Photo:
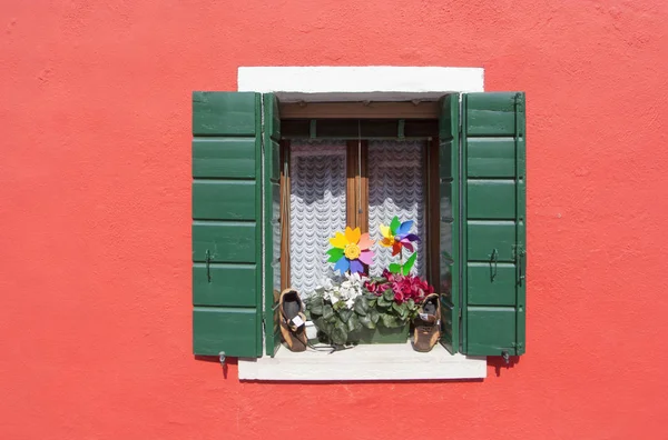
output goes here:
{"type": "Polygon", "coordinates": [[[304,298],[323,278],[334,276],[327,263],[331,237],[346,226],[346,143],[299,140],[291,144],[291,284],[304,298]]]}

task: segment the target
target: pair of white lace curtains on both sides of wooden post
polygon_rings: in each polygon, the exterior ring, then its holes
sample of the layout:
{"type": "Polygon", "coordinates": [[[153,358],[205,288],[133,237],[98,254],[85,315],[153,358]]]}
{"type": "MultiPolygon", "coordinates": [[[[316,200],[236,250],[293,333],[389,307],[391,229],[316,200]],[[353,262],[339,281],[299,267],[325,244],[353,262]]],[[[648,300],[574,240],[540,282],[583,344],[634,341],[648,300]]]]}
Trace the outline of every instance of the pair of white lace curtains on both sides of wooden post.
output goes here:
{"type": "MultiPolygon", "coordinates": [[[[411,232],[425,239],[424,143],[420,141],[369,142],[369,230],[376,242],[379,224],[414,220],[411,232]]],[[[327,262],[328,239],[346,227],[346,143],[336,140],[302,140],[291,144],[291,283],[308,297],[324,278],[335,276],[327,262]]],[[[424,277],[425,246],[415,244],[414,273],[424,277]]],[[[380,243],[372,276],[391,262],[392,250],[380,243]]],[[[404,260],[407,257],[404,256],[404,260]]]]}

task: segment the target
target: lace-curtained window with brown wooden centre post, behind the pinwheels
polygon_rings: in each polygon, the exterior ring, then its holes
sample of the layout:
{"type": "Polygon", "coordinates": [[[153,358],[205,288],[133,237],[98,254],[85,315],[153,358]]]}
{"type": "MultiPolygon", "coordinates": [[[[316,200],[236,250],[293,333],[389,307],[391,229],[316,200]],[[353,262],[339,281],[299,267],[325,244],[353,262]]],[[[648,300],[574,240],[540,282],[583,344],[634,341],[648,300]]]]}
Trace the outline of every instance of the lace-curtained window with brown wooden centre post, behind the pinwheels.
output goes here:
{"type": "MultiPolygon", "coordinates": [[[[351,121],[356,123],[357,121],[351,121]]],[[[289,170],[289,200],[284,209],[289,212],[289,233],[283,236],[283,246],[289,269],[284,268],[282,289],[293,287],[308,296],[334,271],[327,263],[328,238],[346,226],[370,231],[381,240],[376,227],[390,223],[394,216],[414,219],[414,231],[426,233],[426,166],[428,147],[424,140],[357,140],[295,138],[282,143],[285,149],[284,170],[289,170]]],[[[436,146],[433,146],[436,147],[436,146]]],[[[430,149],[431,151],[431,149],[430,149]]],[[[438,200],[435,201],[438,203],[438,200]]],[[[418,260],[414,270],[426,277],[426,242],[415,244],[418,260]]],[[[371,276],[381,276],[387,267],[391,250],[375,249],[371,276]]]]}

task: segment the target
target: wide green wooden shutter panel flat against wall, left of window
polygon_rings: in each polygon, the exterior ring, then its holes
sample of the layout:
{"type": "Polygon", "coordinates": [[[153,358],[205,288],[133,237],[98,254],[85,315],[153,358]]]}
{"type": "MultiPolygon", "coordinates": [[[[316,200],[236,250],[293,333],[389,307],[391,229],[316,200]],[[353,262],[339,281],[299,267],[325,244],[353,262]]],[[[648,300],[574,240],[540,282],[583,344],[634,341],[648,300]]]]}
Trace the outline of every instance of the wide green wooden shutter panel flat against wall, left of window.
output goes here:
{"type": "Polygon", "coordinates": [[[262,356],[261,97],[193,93],[193,351],[262,356]]]}

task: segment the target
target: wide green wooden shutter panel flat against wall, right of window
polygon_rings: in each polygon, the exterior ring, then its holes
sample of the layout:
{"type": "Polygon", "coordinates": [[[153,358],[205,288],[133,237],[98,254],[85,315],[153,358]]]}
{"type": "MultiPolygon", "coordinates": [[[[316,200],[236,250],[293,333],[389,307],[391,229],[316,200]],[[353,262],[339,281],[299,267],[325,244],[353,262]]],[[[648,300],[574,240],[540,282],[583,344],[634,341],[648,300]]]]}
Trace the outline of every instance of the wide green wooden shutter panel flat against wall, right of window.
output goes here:
{"type": "Polygon", "coordinates": [[[524,94],[462,99],[463,351],[518,356],[525,350],[524,94]]]}

